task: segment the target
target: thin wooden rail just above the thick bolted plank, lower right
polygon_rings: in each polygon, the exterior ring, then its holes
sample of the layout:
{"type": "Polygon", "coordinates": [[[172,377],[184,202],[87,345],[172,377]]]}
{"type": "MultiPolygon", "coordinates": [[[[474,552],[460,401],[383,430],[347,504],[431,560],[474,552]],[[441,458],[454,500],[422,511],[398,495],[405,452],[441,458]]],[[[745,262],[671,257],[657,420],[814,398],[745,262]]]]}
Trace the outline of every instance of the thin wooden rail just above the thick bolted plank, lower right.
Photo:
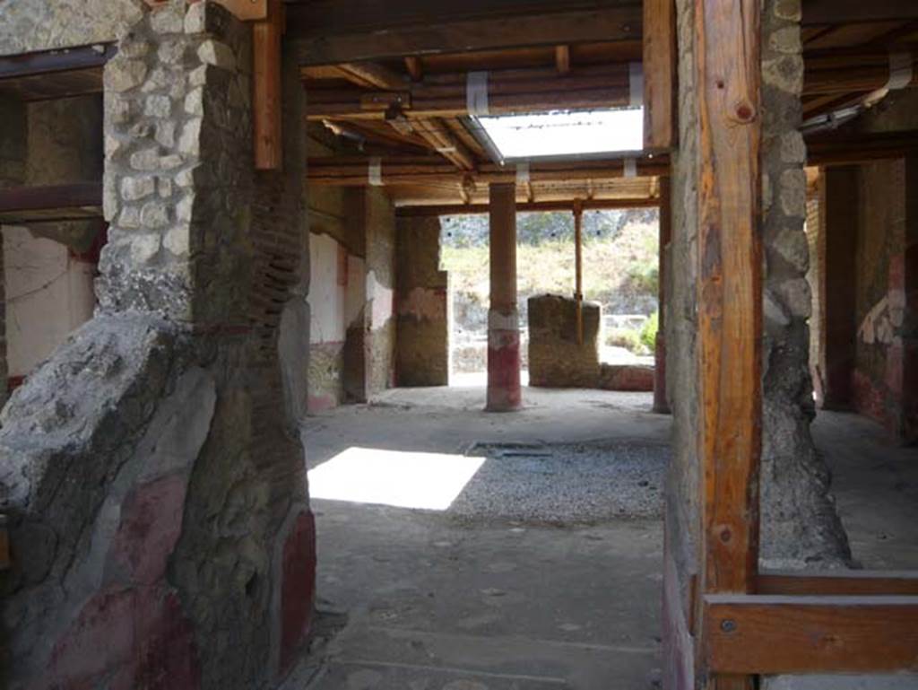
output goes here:
{"type": "Polygon", "coordinates": [[[915,571],[768,571],[756,578],[756,594],[912,595],[918,596],[915,571]]]}

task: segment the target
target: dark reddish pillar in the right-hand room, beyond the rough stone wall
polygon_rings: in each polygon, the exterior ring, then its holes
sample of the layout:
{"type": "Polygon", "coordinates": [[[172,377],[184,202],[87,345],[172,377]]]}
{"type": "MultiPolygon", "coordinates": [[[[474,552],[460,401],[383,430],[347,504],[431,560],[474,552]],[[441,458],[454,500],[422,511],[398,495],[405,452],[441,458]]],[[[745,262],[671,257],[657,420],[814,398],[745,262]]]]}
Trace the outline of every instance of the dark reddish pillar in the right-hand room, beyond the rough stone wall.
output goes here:
{"type": "Polygon", "coordinates": [[[822,342],[819,367],[823,369],[823,407],[845,408],[851,402],[851,377],[855,366],[857,196],[856,166],[823,171],[820,187],[819,280],[822,283],[822,342]]]}

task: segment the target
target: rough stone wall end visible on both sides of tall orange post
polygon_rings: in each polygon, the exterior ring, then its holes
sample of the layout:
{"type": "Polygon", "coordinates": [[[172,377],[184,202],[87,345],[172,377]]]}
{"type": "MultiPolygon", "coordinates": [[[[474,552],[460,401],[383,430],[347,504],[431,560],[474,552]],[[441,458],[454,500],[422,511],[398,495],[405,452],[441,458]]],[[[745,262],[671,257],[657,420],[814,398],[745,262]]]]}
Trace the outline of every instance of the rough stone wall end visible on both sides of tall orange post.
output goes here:
{"type": "MultiPolygon", "coordinates": [[[[697,456],[699,125],[695,3],[677,0],[679,149],[673,157],[672,270],[667,285],[666,389],[673,405],[674,458],[666,492],[664,637],[666,688],[696,686],[689,583],[698,572],[697,456]]],[[[849,558],[812,445],[808,372],[810,290],[803,232],[806,180],[800,125],[800,0],[766,0],[762,15],[762,237],[765,254],[761,561],[774,567],[831,567],[849,558]]],[[[776,679],[767,679],[774,683],[776,679]]]]}

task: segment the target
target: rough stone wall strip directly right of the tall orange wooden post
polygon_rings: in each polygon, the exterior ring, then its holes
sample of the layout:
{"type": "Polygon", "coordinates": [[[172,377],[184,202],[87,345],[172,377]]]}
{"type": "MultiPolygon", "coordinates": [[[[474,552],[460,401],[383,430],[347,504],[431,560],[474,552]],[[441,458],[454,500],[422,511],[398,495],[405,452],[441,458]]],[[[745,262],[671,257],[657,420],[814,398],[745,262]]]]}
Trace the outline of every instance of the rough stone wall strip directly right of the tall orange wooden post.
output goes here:
{"type": "Polygon", "coordinates": [[[770,567],[827,567],[850,558],[828,492],[829,474],[812,443],[806,280],[806,149],[800,127],[803,61],[799,0],[768,0],[762,16],[761,557],[770,567]]]}

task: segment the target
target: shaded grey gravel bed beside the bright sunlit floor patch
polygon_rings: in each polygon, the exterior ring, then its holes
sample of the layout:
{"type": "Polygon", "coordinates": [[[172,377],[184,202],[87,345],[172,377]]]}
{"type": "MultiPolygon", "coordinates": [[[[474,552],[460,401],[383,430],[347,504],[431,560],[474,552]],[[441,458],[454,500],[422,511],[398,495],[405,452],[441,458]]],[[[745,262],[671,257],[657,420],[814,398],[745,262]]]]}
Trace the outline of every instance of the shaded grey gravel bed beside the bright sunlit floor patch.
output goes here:
{"type": "Polygon", "coordinates": [[[478,444],[487,461],[449,513],[536,523],[661,515],[669,447],[661,443],[478,444]]]}

